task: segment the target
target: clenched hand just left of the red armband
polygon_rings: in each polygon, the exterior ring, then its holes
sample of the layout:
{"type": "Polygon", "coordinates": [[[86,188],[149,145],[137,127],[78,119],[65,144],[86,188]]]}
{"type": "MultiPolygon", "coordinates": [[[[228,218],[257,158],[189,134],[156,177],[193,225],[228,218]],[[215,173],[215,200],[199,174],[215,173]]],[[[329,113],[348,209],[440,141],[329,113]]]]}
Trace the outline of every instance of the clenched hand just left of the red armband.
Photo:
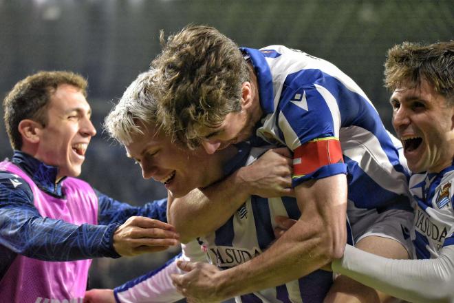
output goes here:
{"type": "Polygon", "coordinates": [[[251,195],[263,198],[294,196],[292,154],[286,147],[269,149],[254,163],[239,169],[251,195]]]}

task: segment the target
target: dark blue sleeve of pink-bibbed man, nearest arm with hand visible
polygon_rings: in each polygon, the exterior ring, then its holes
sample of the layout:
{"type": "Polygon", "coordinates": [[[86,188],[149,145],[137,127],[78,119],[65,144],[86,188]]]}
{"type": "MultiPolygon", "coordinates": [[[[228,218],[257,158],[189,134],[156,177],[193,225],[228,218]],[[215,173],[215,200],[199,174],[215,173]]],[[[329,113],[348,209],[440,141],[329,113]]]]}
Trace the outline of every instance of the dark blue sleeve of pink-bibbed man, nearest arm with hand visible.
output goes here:
{"type": "Polygon", "coordinates": [[[27,182],[0,172],[0,262],[15,254],[47,261],[118,258],[111,238],[118,224],[70,224],[43,218],[27,182]],[[19,181],[19,182],[12,182],[19,181]],[[19,184],[19,185],[18,185],[19,184]]]}

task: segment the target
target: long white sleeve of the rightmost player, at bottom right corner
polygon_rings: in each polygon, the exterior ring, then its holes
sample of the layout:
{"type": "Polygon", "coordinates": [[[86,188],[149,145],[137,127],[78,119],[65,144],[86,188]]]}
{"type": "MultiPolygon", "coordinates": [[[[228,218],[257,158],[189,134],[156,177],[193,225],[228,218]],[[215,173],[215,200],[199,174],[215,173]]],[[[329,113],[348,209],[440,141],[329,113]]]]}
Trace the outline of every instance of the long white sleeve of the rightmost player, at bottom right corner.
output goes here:
{"type": "Polygon", "coordinates": [[[393,260],[350,245],[332,269],[394,297],[411,302],[454,302],[454,246],[436,259],[393,260]]]}

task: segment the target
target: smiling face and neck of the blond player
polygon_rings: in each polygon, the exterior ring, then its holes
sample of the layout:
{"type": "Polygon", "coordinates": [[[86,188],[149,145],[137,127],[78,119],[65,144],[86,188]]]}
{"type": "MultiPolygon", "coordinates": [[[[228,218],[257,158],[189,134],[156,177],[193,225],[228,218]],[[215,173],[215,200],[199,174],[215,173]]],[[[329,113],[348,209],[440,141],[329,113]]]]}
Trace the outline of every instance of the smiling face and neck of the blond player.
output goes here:
{"type": "Polygon", "coordinates": [[[188,149],[156,132],[155,126],[138,123],[143,134],[133,134],[125,145],[127,155],[142,168],[145,179],[162,182],[175,197],[221,178],[221,154],[207,155],[202,147],[188,149]]]}

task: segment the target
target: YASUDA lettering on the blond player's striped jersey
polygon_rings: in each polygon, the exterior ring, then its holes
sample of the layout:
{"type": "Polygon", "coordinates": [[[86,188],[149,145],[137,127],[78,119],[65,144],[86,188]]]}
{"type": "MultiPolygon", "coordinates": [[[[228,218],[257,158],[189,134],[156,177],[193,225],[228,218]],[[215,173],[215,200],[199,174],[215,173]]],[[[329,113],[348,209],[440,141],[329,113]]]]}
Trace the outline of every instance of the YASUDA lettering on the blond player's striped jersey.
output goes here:
{"type": "Polygon", "coordinates": [[[210,259],[215,262],[218,267],[235,267],[238,264],[248,262],[252,258],[260,254],[259,249],[244,249],[237,247],[209,247],[208,254],[210,259]]]}

